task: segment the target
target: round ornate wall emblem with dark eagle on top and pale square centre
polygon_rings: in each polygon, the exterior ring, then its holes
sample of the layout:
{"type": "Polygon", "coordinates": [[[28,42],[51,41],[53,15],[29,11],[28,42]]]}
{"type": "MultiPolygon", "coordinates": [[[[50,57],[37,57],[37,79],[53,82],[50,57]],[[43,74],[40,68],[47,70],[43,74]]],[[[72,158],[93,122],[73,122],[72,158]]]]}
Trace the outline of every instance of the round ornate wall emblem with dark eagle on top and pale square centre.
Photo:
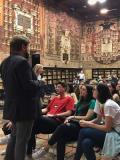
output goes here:
{"type": "Polygon", "coordinates": [[[104,22],[93,33],[92,56],[95,61],[110,64],[120,60],[120,39],[117,24],[104,22]]]}

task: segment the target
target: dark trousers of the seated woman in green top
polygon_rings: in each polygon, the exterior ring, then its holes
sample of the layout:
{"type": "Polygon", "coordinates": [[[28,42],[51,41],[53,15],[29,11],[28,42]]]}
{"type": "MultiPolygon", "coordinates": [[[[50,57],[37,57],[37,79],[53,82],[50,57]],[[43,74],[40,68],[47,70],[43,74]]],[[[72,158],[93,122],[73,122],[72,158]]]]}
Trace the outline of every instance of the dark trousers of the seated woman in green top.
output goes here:
{"type": "Polygon", "coordinates": [[[57,160],[64,160],[65,145],[67,142],[76,141],[80,125],[77,123],[61,124],[57,127],[48,141],[49,145],[57,142],[57,160]]]}

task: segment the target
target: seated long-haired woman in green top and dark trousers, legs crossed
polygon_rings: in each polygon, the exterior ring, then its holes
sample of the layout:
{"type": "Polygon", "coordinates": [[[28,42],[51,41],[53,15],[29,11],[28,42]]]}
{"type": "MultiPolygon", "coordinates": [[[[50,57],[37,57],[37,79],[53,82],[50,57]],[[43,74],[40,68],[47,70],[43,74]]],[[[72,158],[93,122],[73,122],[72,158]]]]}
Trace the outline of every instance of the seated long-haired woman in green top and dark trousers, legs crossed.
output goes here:
{"type": "Polygon", "coordinates": [[[94,107],[93,88],[92,86],[83,85],[74,116],[68,117],[64,124],[58,126],[48,141],[48,148],[57,143],[57,160],[64,160],[65,144],[77,140],[80,130],[79,120],[93,119],[94,107]]]}

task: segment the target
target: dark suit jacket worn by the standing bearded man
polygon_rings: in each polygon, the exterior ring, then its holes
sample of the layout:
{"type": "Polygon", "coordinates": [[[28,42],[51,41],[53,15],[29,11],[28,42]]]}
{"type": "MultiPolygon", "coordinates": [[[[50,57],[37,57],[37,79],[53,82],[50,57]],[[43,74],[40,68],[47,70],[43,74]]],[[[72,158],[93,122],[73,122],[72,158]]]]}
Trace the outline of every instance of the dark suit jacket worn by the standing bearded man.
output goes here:
{"type": "Polygon", "coordinates": [[[35,119],[41,84],[27,60],[18,55],[9,56],[0,70],[5,90],[3,118],[15,122],[35,119]]]}

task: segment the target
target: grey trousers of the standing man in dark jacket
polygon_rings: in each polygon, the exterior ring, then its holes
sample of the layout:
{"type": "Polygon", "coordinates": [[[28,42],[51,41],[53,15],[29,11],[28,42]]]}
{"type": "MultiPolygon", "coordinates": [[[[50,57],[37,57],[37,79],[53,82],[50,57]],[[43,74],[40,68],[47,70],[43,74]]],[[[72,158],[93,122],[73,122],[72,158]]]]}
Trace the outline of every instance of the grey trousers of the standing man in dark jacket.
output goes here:
{"type": "Polygon", "coordinates": [[[7,145],[5,160],[24,160],[33,121],[21,121],[13,125],[7,145]]]}

